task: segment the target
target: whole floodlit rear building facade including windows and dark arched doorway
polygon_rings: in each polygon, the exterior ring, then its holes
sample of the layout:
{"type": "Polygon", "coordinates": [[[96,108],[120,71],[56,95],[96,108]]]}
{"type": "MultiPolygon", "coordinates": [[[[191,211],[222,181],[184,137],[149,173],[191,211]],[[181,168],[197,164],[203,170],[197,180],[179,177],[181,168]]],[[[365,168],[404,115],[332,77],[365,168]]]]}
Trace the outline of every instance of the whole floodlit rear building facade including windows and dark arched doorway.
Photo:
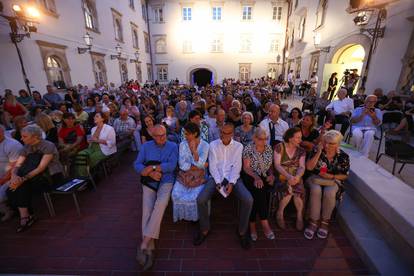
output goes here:
{"type": "Polygon", "coordinates": [[[149,14],[153,69],[161,82],[204,85],[281,73],[284,0],[150,0],[149,14]]]}

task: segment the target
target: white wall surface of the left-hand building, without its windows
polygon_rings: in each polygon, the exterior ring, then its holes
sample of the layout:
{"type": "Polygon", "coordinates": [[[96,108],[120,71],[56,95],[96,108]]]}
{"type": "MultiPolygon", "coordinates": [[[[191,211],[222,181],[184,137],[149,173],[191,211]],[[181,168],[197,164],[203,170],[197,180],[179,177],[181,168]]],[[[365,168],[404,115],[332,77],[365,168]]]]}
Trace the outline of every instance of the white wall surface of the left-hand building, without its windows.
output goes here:
{"type": "MultiPolygon", "coordinates": [[[[24,4],[29,1],[3,0],[2,2],[5,6],[5,14],[12,15],[12,4],[15,2],[24,4]]],[[[67,46],[65,52],[73,85],[82,83],[93,86],[95,79],[91,56],[89,53],[80,55],[77,51],[77,47],[85,47],[83,36],[87,32],[82,1],[55,0],[55,3],[58,18],[42,13],[37,26],[38,32],[33,33],[30,39],[25,38],[23,42],[19,43],[28,78],[34,89],[39,89],[41,93],[45,92],[47,78],[39,46],[36,44],[36,40],[43,40],[67,46]]],[[[136,79],[135,64],[129,62],[129,59],[135,59],[130,22],[134,22],[138,26],[141,71],[144,82],[147,79],[146,63],[151,62],[150,55],[144,50],[143,32],[148,32],[148,30],[142,19],[141,1],[135,1],[135,10],[131,9],[128,3],[129,1],[124,0],[97,0],[96,8],[100,33],[88,31],[93,37],[92,51],[105,54],[108,82],[114,82],[116,85],[120,84],[121,78],[118,61],[110,59],[110,55],[115,54],[115,46],[118,43],[114,38],[111,8],[122,14],[124,43],[120,44],[123,48],[122,56],[128,58],[128,77],[136,79]]],[[[7,23],[2,21],[0,24],[0,93],[3,93],[5,88],[14,91],[25,88],[18,56],[8,36],[9,31],[7,23]]]]}

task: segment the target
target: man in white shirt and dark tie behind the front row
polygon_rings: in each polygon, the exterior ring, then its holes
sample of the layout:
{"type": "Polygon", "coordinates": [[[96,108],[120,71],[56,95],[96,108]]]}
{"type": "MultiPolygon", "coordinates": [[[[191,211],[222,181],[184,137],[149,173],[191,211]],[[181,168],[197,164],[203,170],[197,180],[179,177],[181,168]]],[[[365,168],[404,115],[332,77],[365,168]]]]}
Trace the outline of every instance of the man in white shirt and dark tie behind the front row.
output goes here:
{"type": "Polygon", "coordinates": [[[274,147],[283,141],[283,134],[289,129],[288,123],[279,118],[280,107],[272,104],[269,107],[269,116],[260,122],[259,126],[266,131],[267,143],[274,147]]]}

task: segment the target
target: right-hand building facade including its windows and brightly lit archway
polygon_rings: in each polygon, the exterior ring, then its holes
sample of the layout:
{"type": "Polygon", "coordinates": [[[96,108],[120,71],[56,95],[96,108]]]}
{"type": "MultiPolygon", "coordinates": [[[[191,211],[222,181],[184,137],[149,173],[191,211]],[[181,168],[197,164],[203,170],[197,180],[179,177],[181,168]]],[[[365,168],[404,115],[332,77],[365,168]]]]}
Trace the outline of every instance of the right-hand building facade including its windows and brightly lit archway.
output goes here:
{"type": "Polygon", "coordinates": [[[343,84],[346,69],[358,70],[361,76],[358,85],[361,85],[362,77],[367,76],[367,94],[375,88],[382,88],[385,92],[411,90],[414,79],[414,2],[372,0],[368,2],[374,6],[373,9],[366,12],[354,9],[356,12],[353,13],[351,2],[363,3],[336,0],[290,2],[292,12],[287,31],[286,72],[293,70],[302,80],[310,79],[311,73],[316,72],[318,92],[326,90],[333,72],[338,73],[343,84]],[[385,32],[372,45],[372,32],[381,4],[386,4],[380,26],[385,26],[385,32]]]}

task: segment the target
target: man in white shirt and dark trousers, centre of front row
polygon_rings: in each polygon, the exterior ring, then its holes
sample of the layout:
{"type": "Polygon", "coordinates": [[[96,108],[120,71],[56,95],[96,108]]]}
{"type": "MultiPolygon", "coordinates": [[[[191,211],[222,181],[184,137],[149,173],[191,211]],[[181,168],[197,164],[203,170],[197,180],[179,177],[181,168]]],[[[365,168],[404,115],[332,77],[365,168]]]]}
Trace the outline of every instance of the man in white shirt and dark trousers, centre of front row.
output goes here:
{"type": "Polygon", "coordinates": [[[247,232],[253,197],[240,178],[243,145],[233,140],[233,134],[234,126],[225,124],[221,128],[220,139],[210,143],[208,163],[212,178],[204,185],[203,190],[197,197],[200,231],[198,231],[193,241],[196,246],[202,244],[210,233],[209,201],[216,189],[222,189],[223,196],[227,197],[234,191],[240,200],[240,244],[243,249],[250,248],[250,239],[247,232]]]}

